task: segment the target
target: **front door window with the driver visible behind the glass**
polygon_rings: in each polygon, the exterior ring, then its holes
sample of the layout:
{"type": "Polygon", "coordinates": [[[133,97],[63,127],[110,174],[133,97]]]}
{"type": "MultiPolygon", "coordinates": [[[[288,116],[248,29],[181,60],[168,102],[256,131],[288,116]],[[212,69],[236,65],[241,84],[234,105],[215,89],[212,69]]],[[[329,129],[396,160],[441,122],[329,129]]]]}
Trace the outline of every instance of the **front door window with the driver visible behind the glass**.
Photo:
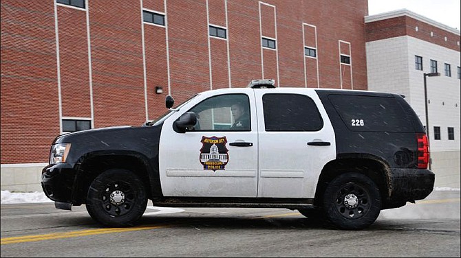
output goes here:
{"type": "Polygon", "coordinates": [[[191,110],[197,114],[195,131],[250,131],[250,102],[245,94],[210,97],[191,110]]]}

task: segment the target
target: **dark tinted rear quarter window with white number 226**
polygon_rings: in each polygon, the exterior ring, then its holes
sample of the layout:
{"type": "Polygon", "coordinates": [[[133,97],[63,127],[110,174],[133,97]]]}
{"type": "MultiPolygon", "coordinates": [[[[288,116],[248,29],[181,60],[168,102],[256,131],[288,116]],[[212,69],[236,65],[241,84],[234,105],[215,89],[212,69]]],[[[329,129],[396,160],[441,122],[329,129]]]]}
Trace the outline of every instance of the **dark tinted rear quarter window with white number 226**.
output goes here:
{"type": "Polygon", "coordinates": [[[414,132],[411,121],[394,97],[330,95],[328,98],[352,131],[414,132]]]}

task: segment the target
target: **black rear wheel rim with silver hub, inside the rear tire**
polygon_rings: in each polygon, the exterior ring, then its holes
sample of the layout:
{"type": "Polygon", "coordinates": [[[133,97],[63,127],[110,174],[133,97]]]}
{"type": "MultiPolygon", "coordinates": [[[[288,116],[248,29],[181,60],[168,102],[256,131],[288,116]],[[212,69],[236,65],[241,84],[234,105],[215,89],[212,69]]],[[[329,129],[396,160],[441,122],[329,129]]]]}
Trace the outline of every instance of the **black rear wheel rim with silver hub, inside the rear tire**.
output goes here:
{"type": "Polygon", "coordinates": [[[362,185],[347,183],[336,192],[334,206],[347,220],[362,218],[372,207],[369,191],[362,185]]]}

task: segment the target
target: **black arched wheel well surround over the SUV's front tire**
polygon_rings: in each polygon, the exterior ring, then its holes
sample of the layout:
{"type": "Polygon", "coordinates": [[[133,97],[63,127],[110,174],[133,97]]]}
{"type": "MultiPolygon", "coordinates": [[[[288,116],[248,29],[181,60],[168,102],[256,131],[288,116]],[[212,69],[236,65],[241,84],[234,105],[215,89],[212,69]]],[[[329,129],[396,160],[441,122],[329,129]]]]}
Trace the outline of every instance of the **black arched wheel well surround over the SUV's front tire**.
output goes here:
{"type": "Polygon", "coordinates": [[[74,202],[82,204],[86,201],[89,185],[94,178],[105,172],[107,169],[127,169],[141,179],[146,188],[147,198],[151,198],[151,187],[149,174],[147,173],[146,164],[136,156],[127,155],[107,155],[95,156],[85,160],[78,169],[78,182],[74,195],[74,202]]]}

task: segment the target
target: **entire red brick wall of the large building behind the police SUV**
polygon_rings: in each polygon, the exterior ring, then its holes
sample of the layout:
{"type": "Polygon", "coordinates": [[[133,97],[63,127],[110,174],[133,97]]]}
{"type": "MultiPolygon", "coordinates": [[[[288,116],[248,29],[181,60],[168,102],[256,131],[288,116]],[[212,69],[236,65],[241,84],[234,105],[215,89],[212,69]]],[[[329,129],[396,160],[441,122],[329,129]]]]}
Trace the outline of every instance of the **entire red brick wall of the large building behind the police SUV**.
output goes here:
{"type": "MultiPolygon", "coordinates": [[[[278,76],[280,86],[303,87],[307,73],[308,86],[317,87],[317,60],[303,56],[302,23],[308,23],[317,26],[320,87],[339,89],[338,40],[345,40],[351,43],[354,89],[367,89],[366,0],[264,2],[275,6],[276,15],[264,4],[260,13],[256,0],[169,0],[166,9],[162,0],[143,0],[143,6],[140,1],[94,0],[87,10],[58,5],[63,116],[90,117],[92,94],[96,128],[140,126],[146,116],[153,119],[166,111],[169,84],[179,104],[211,84],[213,89],[228,87],[228,67],[233,87],[262,78],[260,14],[262,34],[276,38],[277,32],[277,51],[262,51],[265,78],[278,76]],[[167,26],[142,23],[142,8],[165,13],[167,26]],[[207,19],[225,27],[228,39],[208,38],[207,19]],[[156,94],[156,86],[164,93],[156,94]]],[[[46,162],[59,134],[54,15],[53,1],[1,2],[2,164],[46,162]]],[[[306,44],[312,40],[308,32],[306,44]]]]}

